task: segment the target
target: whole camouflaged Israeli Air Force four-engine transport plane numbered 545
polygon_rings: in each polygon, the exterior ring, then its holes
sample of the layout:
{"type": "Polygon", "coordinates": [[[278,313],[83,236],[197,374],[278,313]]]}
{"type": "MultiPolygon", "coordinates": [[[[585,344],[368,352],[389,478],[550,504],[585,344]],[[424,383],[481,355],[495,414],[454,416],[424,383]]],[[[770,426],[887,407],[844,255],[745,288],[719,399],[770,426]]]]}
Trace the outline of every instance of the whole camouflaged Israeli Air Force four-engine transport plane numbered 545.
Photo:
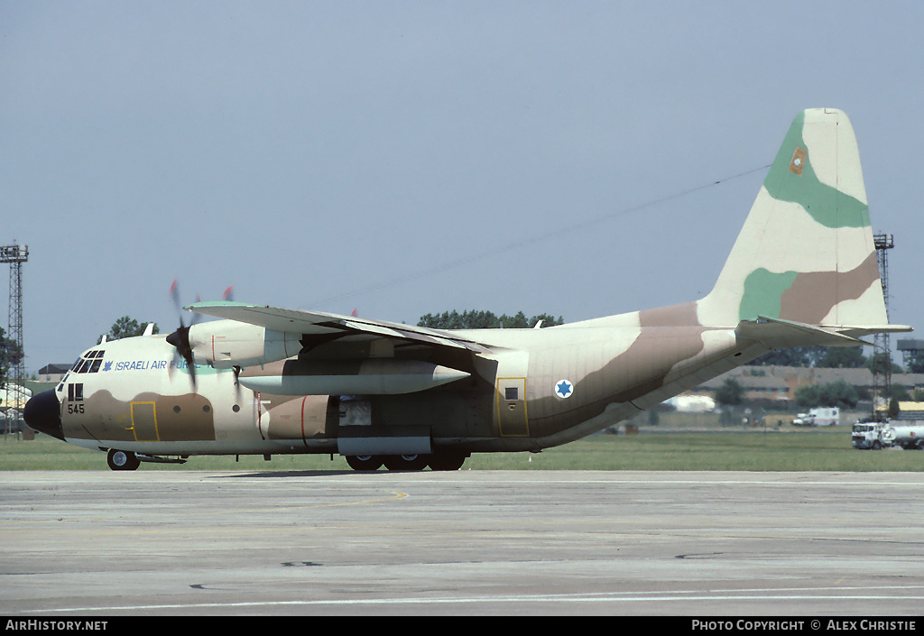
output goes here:
{"type": "Polygon", "coordinates": [[[701,300],[468,331],[230,301],[186,309],[219,320],[88,349],[30,399],[26,422],[108,450],[116,470],[282,453],[457,470],[471,453],[600,431],[772,349],[910,330],[888,324],[857,141],[830,109],[796,116],[701,300]]]}

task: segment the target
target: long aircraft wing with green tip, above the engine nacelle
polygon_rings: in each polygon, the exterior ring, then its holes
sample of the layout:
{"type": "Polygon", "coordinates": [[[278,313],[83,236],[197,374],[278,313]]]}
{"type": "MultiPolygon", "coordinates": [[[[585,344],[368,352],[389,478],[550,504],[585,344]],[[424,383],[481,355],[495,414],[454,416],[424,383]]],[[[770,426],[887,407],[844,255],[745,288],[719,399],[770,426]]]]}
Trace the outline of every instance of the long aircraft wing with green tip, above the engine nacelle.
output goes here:
{"type": "Polygon", "coordinates": [[[307,312],[227,301],[197,302],[185,309],[286,334],[298,334],[299,338],[309,347],[312,341],[321,344],[342,336],[367,336],[385,337],[433,347],[468,349],[480,353],[490,351],[480,342],[454,332],[336,313],[307,312]]]}

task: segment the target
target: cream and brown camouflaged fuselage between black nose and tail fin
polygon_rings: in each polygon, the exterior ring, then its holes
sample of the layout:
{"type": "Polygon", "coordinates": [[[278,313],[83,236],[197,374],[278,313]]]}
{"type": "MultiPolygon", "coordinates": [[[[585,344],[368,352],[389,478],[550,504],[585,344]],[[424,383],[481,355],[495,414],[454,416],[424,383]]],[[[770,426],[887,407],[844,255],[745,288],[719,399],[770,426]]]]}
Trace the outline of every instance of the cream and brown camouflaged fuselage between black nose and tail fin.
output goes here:
{"type": "MultiPolygon", "coordinates": [[[[538,451],[632,417],[699,384],[700,375],[716,374],[716,364],[735,366],[730,352],[745,347],[734,330],[666,324],[685,310],[665,311],[465,332],[489,351],[437,349],[432,359],[413,353],[414,361],[457,370],[460,379],[381,395],[268,394],[247,388],[235,370],[206,365],[197,365],[194,386],[164,336],[106,342],[85,351],[55,388],[61,433],[78,446],[148,455],[346,454],[344,447],[356,447],[347,437],[383,434],[468,453],[538,451]]],[[[392,360],[402,355],[393,352],[392,360]]],[[[311,355],[298,363],[330,367],[311,355]]],[[[356,379],[324,377],[326,385],[356,379]]]]}

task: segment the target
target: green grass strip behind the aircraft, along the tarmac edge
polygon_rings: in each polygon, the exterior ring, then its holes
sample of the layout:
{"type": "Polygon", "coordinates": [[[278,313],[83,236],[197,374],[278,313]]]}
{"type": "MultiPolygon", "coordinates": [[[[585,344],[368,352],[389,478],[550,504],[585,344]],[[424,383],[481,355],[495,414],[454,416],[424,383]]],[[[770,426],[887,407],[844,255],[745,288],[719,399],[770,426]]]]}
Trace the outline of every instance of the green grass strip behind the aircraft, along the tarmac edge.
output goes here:
{"type": "MultiPolygon", "coordinates": [[[[105,453],[45,435],[0,441],[2,471],[108,471],[105,453]]],[[[194,456],[141,471],[349,471],[334,455],[194,456]]],[[[856,450],[848,427],[825,430],[596,434],[541,453],[477,453],[472,471],[924,471],[924,451],[856,450]]]]}

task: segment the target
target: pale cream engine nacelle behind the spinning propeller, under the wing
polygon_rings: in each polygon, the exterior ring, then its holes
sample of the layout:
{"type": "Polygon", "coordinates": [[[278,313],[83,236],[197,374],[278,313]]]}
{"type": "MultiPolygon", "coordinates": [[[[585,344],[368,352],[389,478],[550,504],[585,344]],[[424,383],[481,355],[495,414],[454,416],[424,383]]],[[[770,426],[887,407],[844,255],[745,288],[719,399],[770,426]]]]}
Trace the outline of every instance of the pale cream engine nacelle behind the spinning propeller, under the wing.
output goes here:
{"type": "Polygon", "coordinates": [[[215,369],[286,360],[301,350],[298,334],[234,320],[193,324],[189,327],[189,346],[197,363],[215,369]]]}

